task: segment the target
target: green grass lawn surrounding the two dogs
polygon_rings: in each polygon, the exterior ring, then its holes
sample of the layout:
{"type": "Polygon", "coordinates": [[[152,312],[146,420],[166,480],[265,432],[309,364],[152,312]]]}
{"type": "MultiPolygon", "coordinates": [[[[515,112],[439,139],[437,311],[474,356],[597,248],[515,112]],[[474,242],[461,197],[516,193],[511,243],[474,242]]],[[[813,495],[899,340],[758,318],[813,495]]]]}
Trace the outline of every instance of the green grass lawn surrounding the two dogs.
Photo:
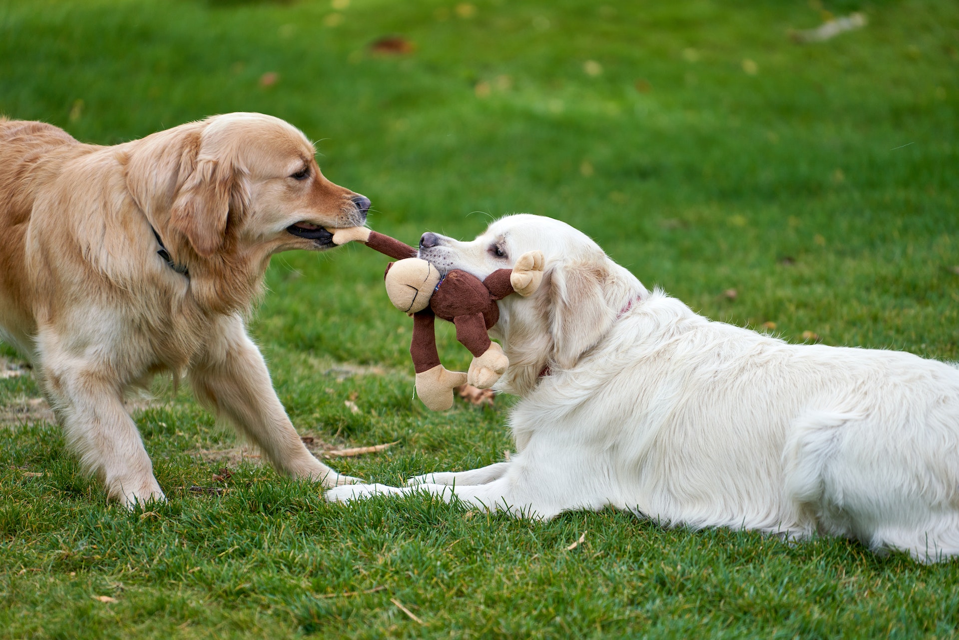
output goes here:
{"type": "MultiPolygon", "coordinates": [[[[869,25],[801,46],[787,31],[818,25],[815,3],[474,0],[462,17],[452,0],[0,0],[0,112],[105,144],[269,112],[407,241],[550,215],[712,318],[959,359],[959,6],[823,2],[869,25]],[[416,51],[367,51],[390,34],[416,51]]],[[[251,330],[294,424],[330,444],[400,440],[336,462],[386,483],[499,460],[510,398],[442,415],[410,400],[411,327],[384,263],[362,248],[274,259],[251,330]]],[[[441,345],[466,365],[448,327],[441,345]]],[[[224,462],[199,451],[236,443],[186,391],[156,391],[135,416],[170,500],[128,513],[56,425],[15,413],[33,379],[0,379],[0,636],[959,633],[959,564],[845,540],[612,511],[529,523],[423,497],[344,509],[249,461],[224,493],[191,492],[222,486],[224,462]]]]}

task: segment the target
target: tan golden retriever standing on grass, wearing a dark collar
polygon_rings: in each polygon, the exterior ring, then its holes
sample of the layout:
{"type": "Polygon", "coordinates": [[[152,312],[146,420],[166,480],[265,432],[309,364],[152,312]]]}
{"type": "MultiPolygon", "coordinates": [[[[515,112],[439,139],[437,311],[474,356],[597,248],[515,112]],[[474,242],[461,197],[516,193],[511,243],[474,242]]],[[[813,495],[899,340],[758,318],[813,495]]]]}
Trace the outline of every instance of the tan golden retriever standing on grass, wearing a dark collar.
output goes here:
{"type": "Polygon", "coordinates": [[[131,507],[163,492],[123,397],[161,371],[280,471],[352,479],[303,446],[244,318],[269,256],[330,249],[369,201],[290,124],[229,113],[113,147],[0,118],[0,339],[30,359],[70,447],[131,507]]]}

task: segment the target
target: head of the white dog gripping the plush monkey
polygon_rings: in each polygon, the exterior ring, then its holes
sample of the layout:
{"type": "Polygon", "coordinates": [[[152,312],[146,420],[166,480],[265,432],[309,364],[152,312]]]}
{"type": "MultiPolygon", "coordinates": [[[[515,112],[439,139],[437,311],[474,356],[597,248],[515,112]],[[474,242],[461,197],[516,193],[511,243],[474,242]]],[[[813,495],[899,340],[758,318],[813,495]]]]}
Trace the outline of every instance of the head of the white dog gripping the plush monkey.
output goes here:
{"type": "Polygon", "coordinates": [[[499,389],[524,395],[546,367],[567,369],[610,330],[620,310],[646,290],[606,257],[585,233],[543,216],[506,216],[472,242],[424,233],[419,255],[441,272],[461,269],[480,279],[539,249],[546,258],[543,284],[532,296],[500,301],[490,333],[503,342],[509,369],[499,389]]]}

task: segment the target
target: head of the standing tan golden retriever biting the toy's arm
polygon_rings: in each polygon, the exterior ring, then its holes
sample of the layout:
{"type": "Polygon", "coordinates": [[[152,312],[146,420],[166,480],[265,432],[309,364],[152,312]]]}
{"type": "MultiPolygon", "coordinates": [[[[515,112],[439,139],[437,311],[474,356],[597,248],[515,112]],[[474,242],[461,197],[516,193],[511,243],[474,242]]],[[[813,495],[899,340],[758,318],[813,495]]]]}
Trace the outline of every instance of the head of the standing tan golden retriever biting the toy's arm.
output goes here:
{"type": "Polygon", "coordinates": [[[324,178],[306,136],[269,115],[216,115],[125,147],[131,195],[187,263],[177,249],[331,249],[327,229],[366,219],[369,201],[324,178]]]}

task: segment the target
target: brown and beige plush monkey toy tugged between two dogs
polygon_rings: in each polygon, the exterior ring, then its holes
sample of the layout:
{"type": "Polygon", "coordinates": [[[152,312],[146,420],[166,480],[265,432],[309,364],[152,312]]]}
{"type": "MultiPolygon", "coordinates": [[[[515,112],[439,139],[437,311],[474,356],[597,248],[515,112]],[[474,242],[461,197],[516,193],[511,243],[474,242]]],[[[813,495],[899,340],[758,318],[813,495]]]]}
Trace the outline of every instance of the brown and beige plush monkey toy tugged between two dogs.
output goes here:
{"type": "Polygon", "coordinates": [[[532,294],[543,279],[543,254],[530,251],[520,256],[513,269],[500,269],[485,280],[455,269],[445,276],[416,249],[364,226],[337,229],[335,245],[359,241],[397,260],[386,267],[386,293],[400,311],[413,317],[409,353],[416,371],[416,393],[427,408],[445,411],[453,406],[453,389],[464,382],[479,389],[492,387],[509,360],[503,347],[489,339],[487,331],[500,319],[496,301],[514,292],[532,294]],[[449,371],[439,362],[434,320],[439,316],[456,324],[456,340],[473,354],[467,373],[449,371]]]}

